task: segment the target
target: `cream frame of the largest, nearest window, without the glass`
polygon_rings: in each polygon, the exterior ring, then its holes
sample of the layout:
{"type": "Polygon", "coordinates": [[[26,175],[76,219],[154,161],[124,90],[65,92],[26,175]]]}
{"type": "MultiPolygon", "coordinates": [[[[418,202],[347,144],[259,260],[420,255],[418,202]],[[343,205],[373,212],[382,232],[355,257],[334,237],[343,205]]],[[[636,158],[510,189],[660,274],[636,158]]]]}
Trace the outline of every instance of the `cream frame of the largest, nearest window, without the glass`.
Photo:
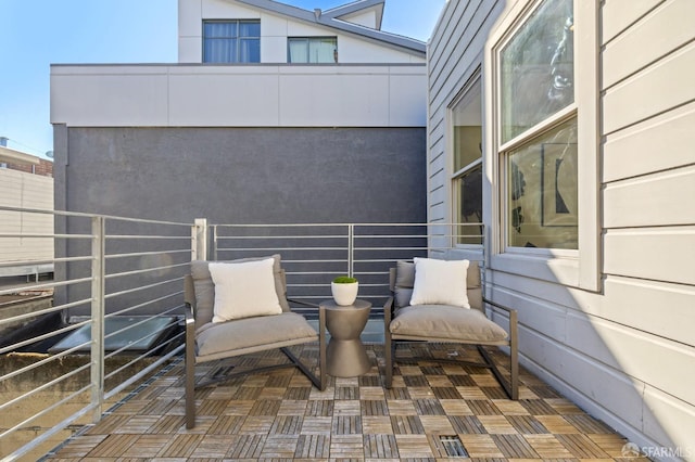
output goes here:
{"type": "Polygon", "coordinates": [[[526,24],[542,0],[517,0],[508,4],[485,43],[483,105],[485,132],[485,176],[492,179],[492,214],[486,224],[495,232],[486,245],[490,267],[505,272],[580,287],[601,290],[599,220],[599,79],[598,2],[573,0],[574,9],[574,102],[502,142],[501,54],[504,47],[526,24]],[[572,116],[578,127],[578,249],[525,248],[506,245],[507,172],[505,159],[510,151],[549,127],[572,116]]]}

